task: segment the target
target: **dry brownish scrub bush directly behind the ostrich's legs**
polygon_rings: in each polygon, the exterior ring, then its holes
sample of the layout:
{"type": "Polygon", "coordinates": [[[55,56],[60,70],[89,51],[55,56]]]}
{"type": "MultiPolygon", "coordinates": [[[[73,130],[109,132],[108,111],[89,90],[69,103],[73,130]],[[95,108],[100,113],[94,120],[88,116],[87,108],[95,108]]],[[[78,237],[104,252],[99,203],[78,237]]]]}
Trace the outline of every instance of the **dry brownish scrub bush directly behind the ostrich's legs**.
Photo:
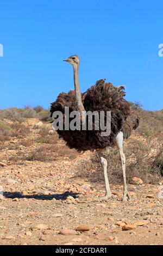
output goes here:
{"type": "MultiPolygon", "coordinates": [[[[131,182],[137,176],[145,183],[154,184],[161,178],[163,172],[163,148],[158,148],[155,155],[152,154],[153,145],[151,141],[143,143],[135,141],[124,147],[126,154],[127,182],[131,182]]],[[[108,156],[108,175],[112,184],[123,184],[120,156],[116,148],[112,148],[108,156]]],[[[91,182],[104,183],[104,176],[96,154],[90,161],[82,162],[77,175],[89,179],[91,182]]]]}

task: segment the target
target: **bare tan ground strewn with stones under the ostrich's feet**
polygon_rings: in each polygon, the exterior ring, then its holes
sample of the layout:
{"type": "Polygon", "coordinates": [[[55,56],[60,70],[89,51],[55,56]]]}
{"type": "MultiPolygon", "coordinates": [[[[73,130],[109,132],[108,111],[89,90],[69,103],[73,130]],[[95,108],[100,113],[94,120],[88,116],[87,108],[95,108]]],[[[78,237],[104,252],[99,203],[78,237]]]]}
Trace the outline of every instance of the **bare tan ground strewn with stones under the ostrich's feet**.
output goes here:
{"type": "MultiPolygon", "coordinates": [[[[29,139],[37,136],[35,121],[26,124],[32,130],[29,139]]],[[[112,198],[99,202],[104,185],[77,175],[92,153],[14,161],[11,156],[36,147],[19,141],[4,142],[0,151],[1,245],[162,245],[161,181],[133,180],[131,201],[125,203],[122,185],[111,185],[112,198]]]]}

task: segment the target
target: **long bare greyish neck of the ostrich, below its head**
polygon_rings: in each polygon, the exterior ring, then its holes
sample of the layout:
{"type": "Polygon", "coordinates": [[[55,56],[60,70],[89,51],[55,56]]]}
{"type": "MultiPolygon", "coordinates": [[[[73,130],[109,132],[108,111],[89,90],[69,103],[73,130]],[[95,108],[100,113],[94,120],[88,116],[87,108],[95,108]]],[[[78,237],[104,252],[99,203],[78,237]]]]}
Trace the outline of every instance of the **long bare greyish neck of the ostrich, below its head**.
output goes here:
{"type": "Polygon", "coordinates": [[[76,94],[76,101],[77,101],[77,107],[80,114],[82,114],[83,111],[85,111],[83,103],[82,103],[82,95],[80,92],[79,87],[79,68],[73,67],[73,74],[74,74],[74,89],[76,94]]]}

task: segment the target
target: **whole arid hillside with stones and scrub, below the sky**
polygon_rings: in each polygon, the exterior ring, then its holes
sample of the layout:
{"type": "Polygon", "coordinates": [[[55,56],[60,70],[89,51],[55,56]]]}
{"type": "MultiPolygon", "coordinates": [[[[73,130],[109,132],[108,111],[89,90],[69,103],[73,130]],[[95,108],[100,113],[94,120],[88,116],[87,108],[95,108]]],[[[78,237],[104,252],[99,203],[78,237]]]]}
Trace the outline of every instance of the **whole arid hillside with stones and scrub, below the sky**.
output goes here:
{"type": "Polygon", "coordinates": [[[94,153],[68,149],[40,106],[0,111],[1,245],[162,244],[163,111],[131,106],[141,122],[124,143],[126,203],[116,148],[108,156],[112,198],[98,202],[104,177],[94,153]]]}

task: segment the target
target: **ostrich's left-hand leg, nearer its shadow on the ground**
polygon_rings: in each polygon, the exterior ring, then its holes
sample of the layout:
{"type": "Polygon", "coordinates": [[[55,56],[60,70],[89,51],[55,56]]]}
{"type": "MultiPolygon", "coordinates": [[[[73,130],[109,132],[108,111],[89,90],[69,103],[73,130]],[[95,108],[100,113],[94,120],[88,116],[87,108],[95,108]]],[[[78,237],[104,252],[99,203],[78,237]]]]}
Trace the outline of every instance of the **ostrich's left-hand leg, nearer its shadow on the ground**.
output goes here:
{"type": "Polygon", "coordinates": [[[101,162],[101,166],[104,170],[104,178],[105,178],[105,196],[99,198],[99,200],[107,200],[109,197],[111,197],[111,191],[110,191],[110,186],[109,186],[109,180],[108,180],[108,174],[107,174],[107,160],[105,159],[104,155],[102,152],[98,152],[98,158],[101,162]]]}

